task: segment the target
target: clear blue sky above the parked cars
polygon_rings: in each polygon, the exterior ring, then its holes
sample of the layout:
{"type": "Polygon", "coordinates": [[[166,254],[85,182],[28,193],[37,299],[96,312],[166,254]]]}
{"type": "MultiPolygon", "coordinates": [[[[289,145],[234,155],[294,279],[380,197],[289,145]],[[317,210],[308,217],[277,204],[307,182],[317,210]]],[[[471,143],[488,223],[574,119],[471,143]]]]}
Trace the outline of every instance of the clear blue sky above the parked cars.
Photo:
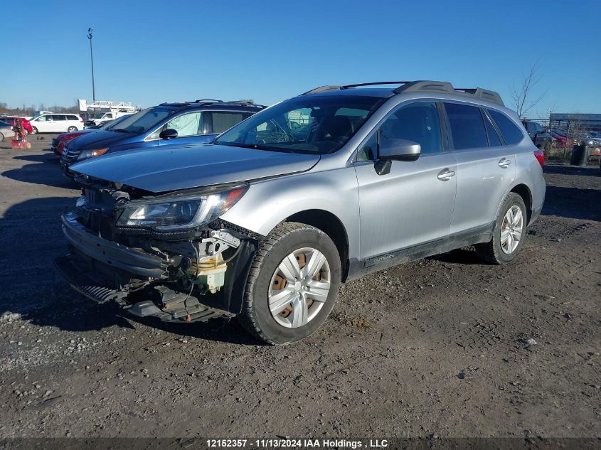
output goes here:
{"type": "Polygon", "coordinates": [[[252,98],[319,85],[448,80],[509,88],[539,60],[536,114],[601,113],[601,2],[48,1],[3,21],[0,102],[252,98]],[[14,62],[13,49],[23,54],[14,62]]]}

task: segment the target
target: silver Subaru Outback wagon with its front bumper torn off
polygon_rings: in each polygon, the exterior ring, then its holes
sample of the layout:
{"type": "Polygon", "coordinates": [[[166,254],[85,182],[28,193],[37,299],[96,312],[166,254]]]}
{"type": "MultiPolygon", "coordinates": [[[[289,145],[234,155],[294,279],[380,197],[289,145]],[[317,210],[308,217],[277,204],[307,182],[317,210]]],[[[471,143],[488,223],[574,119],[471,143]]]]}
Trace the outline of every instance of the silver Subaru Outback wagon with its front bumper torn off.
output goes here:
{"type": "Polygon", "coordinates": [[[71,286],[137,316],[237,316],[272,344],[324,323],[339,286],[474,245],[511,262],[545,197],[543,155],[496,92],[414,81],[324,86],[212,144],[72,167],[71,286]],[[379,87],[376,87],[379,86],[379,87]]]}

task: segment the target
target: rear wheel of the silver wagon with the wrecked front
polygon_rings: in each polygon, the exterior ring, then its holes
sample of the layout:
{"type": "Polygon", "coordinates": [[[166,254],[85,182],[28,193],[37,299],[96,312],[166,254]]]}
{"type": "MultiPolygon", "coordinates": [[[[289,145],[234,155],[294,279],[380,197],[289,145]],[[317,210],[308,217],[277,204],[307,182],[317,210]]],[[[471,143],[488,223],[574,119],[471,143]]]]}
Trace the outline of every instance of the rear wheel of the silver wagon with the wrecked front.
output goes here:
{"type": "Polygon", "coordinates": [[[496,217],[492,239],[474,245],[478,256],[491,264],[508,264],[523,245],[527,224],[526,205],[520,195],[506,195],[496,217]]]}

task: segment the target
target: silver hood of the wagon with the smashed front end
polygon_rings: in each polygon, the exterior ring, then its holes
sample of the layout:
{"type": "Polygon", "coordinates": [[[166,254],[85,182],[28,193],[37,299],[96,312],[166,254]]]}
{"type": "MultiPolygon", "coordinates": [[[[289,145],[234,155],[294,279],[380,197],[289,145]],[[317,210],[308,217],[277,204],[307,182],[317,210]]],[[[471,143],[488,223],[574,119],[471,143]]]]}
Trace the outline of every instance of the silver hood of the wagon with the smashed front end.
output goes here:
{"type": "Polygon", "coordinates": [[[71,170],[159,193],[308,171],[318,161],[319,155],[201,144],[119,151],[71,170]]]}

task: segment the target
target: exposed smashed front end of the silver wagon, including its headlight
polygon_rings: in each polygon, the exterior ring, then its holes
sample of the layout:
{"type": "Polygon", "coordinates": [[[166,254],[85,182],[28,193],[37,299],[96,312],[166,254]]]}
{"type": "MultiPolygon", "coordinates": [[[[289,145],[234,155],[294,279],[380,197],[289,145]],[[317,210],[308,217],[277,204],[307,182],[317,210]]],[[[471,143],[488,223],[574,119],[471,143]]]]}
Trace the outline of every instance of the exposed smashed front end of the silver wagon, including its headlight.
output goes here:
{"type": "Polygon", "coordinates": [[[260,235],[220,220],[243,183],[156,195],[90,178],[61,216],[70,254],[56,264],[81,294],[137,316],[206,321],[241,309],[260,235]]]}

